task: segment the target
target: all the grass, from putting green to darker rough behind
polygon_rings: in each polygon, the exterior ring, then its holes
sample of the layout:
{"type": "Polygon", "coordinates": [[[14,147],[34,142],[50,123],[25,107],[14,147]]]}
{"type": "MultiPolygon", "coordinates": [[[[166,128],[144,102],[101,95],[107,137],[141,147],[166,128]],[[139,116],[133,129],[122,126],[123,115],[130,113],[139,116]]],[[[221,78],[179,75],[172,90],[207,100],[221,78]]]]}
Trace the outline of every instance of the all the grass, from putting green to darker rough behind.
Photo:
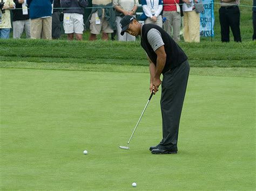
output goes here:
{"type": "Polygon", "coordinates": [[[179,43],[191,75],[177,155],[148,150],[161,139],[160,93],[131,149],[118,148],[149,97],[139,41],[0,39],[0,190],[254,190],[251,8],[240,8],[243,42],[226,44],[217,6],[213,43],[179,43]]]}

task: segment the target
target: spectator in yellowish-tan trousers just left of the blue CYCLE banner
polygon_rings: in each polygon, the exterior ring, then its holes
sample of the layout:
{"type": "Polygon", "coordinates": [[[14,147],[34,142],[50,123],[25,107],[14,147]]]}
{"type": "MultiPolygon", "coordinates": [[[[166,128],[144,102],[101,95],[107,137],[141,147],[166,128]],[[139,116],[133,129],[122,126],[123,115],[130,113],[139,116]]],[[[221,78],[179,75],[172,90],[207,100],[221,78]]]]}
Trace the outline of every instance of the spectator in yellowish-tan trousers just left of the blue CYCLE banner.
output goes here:
{"type": "Polygon", "coordinates": [[[196,13],[194,2],[197,0],[183,0],[183,36],[188,43],[200,42],[200,15],[196,13]]]}

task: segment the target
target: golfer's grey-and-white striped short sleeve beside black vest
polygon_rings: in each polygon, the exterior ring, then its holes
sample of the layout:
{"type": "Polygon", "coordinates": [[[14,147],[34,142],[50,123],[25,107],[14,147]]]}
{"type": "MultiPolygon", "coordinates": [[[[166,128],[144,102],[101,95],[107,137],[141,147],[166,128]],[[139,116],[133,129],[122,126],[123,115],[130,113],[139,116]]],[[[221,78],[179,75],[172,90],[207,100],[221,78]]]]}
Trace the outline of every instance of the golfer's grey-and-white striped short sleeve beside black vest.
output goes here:
{"type": "Polygon", "coordinates": [[[153,48],[154,52],[156,52],[157,48],[164,45],[161,33],[157,29],[149,30],[147,33],[147,40],[149,41],[149,44],[153,48]]]}

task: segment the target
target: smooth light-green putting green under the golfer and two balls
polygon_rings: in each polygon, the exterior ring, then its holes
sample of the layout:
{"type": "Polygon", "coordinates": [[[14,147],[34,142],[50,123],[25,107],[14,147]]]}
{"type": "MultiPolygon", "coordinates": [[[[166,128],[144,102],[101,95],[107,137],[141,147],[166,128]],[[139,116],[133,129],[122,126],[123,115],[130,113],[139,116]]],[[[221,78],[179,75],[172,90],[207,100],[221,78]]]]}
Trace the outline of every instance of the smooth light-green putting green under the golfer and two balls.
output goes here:
{"type": "Polygon", "coordinates": [[[160,93],[130,150],[118,148],[149,98],[149,74],[0,68],[0,189],[255,189],[255,77],[225,73],[190,75],[178,154],[153,155],[160,93]]]}

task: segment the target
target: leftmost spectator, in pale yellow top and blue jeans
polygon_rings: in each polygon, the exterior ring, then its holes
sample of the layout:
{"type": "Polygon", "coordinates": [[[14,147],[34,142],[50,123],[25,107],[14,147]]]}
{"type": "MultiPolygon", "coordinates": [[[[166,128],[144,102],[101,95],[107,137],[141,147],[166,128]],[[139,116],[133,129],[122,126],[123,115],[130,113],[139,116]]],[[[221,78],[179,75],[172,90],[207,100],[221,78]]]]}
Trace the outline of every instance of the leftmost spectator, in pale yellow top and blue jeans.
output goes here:
{"type": "Polygon", "coordinates": [[[13,0],[1,0],[0,3],[4,3],[0,10],[0,38],[9,39],[11,29],[10,9],[15,8],[15,3],[13,0]]]}

